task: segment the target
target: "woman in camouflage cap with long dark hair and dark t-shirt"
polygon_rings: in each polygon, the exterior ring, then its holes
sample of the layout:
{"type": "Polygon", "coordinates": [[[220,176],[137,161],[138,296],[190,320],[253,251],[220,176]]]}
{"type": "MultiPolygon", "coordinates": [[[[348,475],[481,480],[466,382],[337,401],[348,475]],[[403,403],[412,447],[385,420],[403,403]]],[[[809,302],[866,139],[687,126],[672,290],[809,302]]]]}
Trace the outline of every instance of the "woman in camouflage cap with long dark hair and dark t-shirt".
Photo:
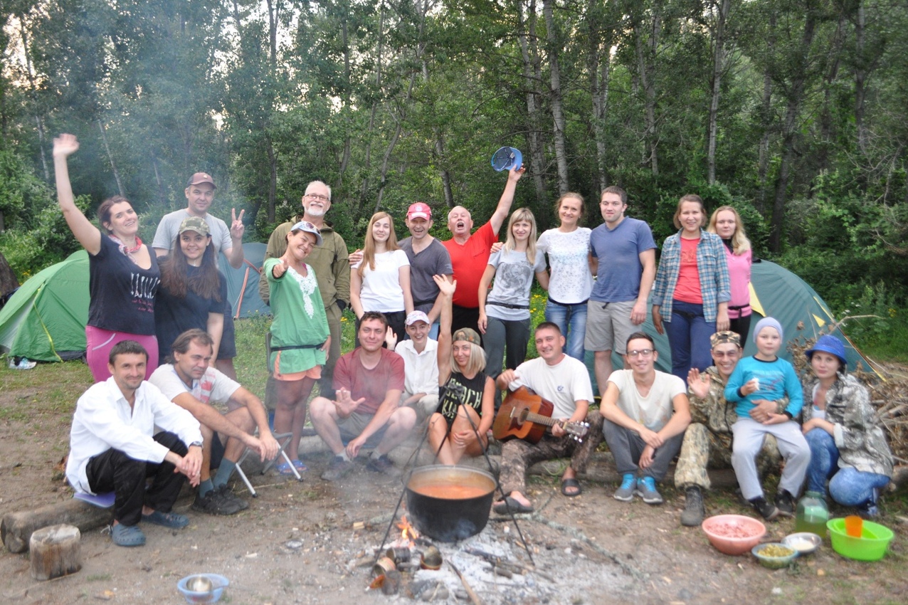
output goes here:
{"type": "Polygon", "coordinates": [[[177,336],[197,328],[214,341],[218,357],[224,325],[227,279],[218,271],[211,230],[205,219],[189,216],[180,223],[171,253],[158,259],[161,288],[154,299],[154,323],[161,359],[171,354],[177,336]]]}

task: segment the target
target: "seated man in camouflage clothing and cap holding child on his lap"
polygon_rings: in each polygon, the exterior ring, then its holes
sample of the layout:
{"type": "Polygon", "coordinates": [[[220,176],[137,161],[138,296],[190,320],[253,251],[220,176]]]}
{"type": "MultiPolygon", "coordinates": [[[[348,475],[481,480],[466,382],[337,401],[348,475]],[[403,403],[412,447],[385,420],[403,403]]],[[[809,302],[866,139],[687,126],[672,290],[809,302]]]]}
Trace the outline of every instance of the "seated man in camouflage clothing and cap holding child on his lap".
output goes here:
{"type": "MultiPolygon", "coordinates": [[[[687,376],[692,423],[685,431],[675,468],[675,487],[686,494],[681,524],[688,527],[703,522],[703,490],[710,487],[707,464],[725,469],[732,466],[732,424],[737,415],[735,403],[725,401],[725,385],[741,359],[741,337],[735,332],[716,332],[710,342],[715,365],[702,374],[695,368],[687,376]]],[[[780,400],[779,405],[784,410],[788,398],[780,400]]],[[[766,435],[763,450],[757,457],[761,476],[778,469],[781,461],[775,437],[766,435]]]]}

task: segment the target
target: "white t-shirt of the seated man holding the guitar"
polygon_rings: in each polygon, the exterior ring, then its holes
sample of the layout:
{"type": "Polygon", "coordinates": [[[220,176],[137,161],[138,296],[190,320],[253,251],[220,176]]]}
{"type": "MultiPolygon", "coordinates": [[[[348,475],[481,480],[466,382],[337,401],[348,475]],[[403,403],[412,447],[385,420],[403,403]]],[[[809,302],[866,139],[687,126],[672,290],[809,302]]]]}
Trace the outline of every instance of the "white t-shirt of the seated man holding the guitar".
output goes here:
{"type": "Polygon", "coordinates": [[[568,355],[555,365],[537,357],[521,363],[514,372],[517,379],[508,384],[508,389],[516,391],[521,386],[532,389],[555,407],[552,418],[570,418],[577,411],[577,402],[593,402],[587,366],[568,355]]]}

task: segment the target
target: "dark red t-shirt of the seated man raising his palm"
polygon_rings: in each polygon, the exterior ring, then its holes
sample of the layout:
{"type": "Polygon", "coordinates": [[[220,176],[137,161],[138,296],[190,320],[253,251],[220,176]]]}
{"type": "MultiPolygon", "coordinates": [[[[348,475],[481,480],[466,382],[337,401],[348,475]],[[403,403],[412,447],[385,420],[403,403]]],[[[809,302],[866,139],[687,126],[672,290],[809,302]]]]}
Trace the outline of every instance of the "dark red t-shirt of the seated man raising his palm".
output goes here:
{"type": "Polygon", "coordinates": [[[403,358],[396,352],[380,349],[379,364],[367,370],[360,362],[361,351],[357,347],[341,355],[334,366],[334,389],[347,389],[354,402],[365,397],[366,401],[356,412],[374,414],[389,391],[403,391],[403,358]]]}

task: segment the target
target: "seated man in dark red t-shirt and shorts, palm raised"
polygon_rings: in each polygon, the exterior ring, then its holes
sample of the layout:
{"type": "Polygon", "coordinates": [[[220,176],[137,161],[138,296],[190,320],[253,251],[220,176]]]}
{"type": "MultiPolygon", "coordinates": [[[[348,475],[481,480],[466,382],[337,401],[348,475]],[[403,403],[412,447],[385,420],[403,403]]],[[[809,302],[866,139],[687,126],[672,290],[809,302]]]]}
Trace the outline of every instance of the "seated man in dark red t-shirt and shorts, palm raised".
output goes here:
{"type": "Polygon", "coordinates": [[[383,314],[363,313],[360,346],[341,355],[334,368],[337,400],[316,397],[309,404],[312,426],[334,453],[331,467],[321,475],[325,481],[337,481],[350,472],[363,446],[374,448],[367,464],[370,471],[392,473],[388,452],[416,423],[416,412],[400,407],[404,364],[399,354],[381,346],[387,332],[383,314]]]}

